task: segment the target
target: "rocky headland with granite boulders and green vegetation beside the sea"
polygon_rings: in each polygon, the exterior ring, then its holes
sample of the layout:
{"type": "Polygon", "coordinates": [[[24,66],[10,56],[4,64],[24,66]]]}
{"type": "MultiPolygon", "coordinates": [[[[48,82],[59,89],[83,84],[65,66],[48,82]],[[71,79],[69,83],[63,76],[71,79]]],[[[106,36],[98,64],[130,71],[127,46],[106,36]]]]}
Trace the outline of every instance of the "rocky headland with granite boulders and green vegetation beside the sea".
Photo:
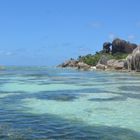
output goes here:
{"type": "Polygon", "coordinates": [[[140,72],[140,46],[116,38],[103,43],[103,49],[95,54],[70,59],[58,67],[80,70],[121,70],[140,72]]]}

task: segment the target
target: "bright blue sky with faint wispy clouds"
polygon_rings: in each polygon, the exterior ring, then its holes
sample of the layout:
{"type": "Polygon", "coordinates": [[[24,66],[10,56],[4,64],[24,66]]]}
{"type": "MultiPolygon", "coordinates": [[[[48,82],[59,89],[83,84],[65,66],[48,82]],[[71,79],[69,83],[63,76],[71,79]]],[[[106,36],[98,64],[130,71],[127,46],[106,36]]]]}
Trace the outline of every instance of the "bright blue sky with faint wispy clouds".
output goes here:
{"type": "Polygon", "coordinates": [[[140,44],[140,0],[0,0],[0,65],[55,66],[105,41],[140,44]]]}

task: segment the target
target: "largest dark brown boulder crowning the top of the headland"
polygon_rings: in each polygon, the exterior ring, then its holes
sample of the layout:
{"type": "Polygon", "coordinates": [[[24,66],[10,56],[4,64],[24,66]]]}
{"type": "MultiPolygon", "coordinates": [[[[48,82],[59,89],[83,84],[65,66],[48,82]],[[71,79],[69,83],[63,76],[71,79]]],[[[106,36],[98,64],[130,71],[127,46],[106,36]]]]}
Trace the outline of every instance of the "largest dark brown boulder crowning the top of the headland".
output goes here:
{"type": "Polygon", "coordinates": [[[132,53],[133,50],[137,47],[136,44],[127,42],[122,39],[114,39],[112,41],[112,53],[132,53]]]}

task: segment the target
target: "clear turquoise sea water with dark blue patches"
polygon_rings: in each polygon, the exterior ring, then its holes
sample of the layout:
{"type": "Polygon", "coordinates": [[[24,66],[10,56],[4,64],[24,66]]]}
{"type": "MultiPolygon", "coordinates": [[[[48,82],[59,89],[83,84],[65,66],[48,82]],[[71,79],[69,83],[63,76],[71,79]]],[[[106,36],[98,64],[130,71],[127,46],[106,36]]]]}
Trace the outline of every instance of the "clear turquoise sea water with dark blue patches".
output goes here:
{"type": "Polygon", "coordinates": [[[7,67],[1,139],[139,140],[140,75],[7,67]]]}

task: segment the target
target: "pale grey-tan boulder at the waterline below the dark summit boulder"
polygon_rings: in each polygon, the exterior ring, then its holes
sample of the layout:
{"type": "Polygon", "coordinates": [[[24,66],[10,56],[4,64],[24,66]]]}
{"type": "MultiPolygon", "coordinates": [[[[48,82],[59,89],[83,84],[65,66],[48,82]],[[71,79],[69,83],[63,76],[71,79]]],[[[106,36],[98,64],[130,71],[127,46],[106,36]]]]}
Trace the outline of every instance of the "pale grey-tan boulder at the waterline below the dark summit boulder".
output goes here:
{"type": "Polygon", "coordinates": [[[123,70],[127,68],[127,62],[124,59],[121,60],[111,59],[107,61],[107,68],[114,70],[123,70]]]}

